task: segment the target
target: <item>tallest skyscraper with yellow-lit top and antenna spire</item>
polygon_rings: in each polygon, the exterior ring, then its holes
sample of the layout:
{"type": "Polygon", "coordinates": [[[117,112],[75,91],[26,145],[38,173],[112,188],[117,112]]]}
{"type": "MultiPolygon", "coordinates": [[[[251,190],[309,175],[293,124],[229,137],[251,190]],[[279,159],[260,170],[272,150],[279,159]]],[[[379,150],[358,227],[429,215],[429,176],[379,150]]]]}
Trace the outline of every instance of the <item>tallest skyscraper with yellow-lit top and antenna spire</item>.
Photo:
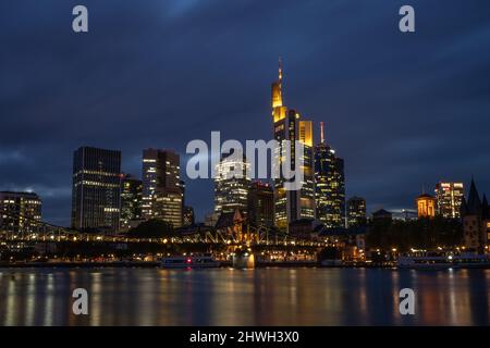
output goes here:
{"type": "Polygon", "coordinates": [[[282,99],[282,64],[279,61],[279,78],[272,84],[272,120],[273,136],[279,148],[273,159],[280,165],[280,178],[274,179],[274,222],[282,229],[287,231],[289,224],[298,219],[315,217],[315,175],[313,152],[313,127],[310,121],[301,120],[301,115],[293,109],[287,109],[282,99]],[[304,146],[302,167],[304,174],[303,186],[299,190],[285,190],[285,179],[282,173],[282,162],[287,149],[284,140],[290,140],[291,166],[295,169],[295,141],[304,146]]]}

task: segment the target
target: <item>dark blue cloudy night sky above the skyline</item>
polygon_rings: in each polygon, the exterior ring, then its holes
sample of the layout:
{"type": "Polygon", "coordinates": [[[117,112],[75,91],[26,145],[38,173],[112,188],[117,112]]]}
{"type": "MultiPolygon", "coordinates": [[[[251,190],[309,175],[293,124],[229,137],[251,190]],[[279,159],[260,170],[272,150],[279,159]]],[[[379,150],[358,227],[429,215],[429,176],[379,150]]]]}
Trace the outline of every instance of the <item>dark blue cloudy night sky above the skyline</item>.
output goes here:
{"type": "MultiPolygon", "coordinates": [[[[146,147],[270,139],[279,55],[285,104],[326,122],[369,211],[414,209],[439,179],[490,194],[488,0],[2,1],[0,190],[36,191],[44,220],[68,225],[79,146],[120,149],[140,176],[146,147]]],[[[199,219],[212,199],[211,181],[187,181],[199,219]]]]}

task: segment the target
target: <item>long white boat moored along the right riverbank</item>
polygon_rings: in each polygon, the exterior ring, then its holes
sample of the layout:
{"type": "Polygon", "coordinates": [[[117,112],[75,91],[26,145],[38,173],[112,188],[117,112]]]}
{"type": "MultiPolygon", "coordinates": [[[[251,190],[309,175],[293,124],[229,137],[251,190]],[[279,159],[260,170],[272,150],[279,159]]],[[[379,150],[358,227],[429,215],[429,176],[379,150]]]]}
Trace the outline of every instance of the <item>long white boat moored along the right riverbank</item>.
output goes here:
{"type": "Polygon", "coordinates": [[[399,257],[397,268],[419,270],[490,269],[490,256],[471,252],[417,252],[399,257]]]}

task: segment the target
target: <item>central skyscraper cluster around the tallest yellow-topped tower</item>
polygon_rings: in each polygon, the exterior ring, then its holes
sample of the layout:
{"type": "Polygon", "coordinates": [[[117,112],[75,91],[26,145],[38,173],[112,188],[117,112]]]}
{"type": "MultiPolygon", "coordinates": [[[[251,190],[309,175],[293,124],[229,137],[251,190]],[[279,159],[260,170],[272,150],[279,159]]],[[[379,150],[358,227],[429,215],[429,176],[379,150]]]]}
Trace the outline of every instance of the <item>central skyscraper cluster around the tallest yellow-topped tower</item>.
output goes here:
{"type": "MultiPolygon", "coordinates": [[[[323,123],[320,142],[314,145],[313,122],[303,120],[298,111],[285,107],[282,77],[280,62],[279,78],[272,84],[271,98],[272,135],[279,144],[273,157],[281,165],[285,153],[295,153],[295,141],[304,146],[302,188],[285,190],[283,175],[271,183],[252,183],[247,177],[249,163],[245,158],[237,161],[236,158],[223,157],[217,165],[215,212],[207,216],[208,224],[218,221],[219,214],[238,210],[254,224],[277,226],[284,232],[290,232],[293,225],[311,224],[314,221],[329,228],[346,227],[344,161],[327,144],[323,123]],[[291,148],[286,149],[286,146],[291,148]],[[243,172],[243,177],[226,177],[231,169],[243,172]]],[[[352,214],[359,217],[353,217],[356,221],[365,219],[366,203],[364,208],[356,207],[352,214]]]]}

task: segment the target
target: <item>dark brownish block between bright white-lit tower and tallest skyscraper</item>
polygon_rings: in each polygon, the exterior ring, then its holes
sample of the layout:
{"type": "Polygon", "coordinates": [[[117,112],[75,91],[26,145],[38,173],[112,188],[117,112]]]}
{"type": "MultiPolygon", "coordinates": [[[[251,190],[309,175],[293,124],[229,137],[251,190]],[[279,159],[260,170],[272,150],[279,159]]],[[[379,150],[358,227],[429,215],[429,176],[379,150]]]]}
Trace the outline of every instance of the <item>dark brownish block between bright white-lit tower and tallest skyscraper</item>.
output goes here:
{"type": "Polygon", "coordinates": [[[269,184],[252,183],[248,192],[248,221],[255,226],[274,225],[274,192],[269,184]]]}

